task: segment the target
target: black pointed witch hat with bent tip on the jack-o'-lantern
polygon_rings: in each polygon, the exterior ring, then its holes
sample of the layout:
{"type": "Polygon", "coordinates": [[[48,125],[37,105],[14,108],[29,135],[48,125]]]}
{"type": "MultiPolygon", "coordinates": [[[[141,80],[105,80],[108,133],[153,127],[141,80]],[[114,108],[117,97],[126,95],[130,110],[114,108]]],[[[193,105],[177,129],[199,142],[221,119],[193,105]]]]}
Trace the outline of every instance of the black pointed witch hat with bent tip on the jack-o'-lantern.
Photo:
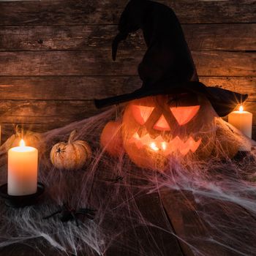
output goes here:
{"type": "Polygon", "coordinates": [[[158,94],[192,92],[205,95],[219,116],[226,116],[248,95],[200,83],[194,61],[173,10],[148,0],[131,0],[119,20],[119,33],[113,40],[116,59],[118,43],[130,32],[143,30],[148,49],[138,67],[143,86],[130,94],[95,99],[97,108],[158,94]]]}

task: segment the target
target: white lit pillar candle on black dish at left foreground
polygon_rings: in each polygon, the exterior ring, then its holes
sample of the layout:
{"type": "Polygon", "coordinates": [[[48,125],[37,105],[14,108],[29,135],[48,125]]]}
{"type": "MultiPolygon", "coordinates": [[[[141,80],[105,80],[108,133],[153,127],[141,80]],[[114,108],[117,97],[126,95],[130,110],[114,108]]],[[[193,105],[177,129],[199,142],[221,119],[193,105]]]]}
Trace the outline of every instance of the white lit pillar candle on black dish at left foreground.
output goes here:
{"type": "Polygon", "coordinates": [[[8,195],[31,195],[37,192],[37,148],[20,146],[8,151],[8,195]]]}

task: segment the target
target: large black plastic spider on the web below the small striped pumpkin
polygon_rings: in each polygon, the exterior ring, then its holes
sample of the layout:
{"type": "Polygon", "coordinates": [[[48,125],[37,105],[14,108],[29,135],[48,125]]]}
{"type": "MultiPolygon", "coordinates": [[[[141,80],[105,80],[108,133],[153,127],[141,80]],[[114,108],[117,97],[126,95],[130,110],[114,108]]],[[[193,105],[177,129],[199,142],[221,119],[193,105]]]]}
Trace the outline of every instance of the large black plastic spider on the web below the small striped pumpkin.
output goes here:
{"type": "Polygon", "coordinates": [[[62,206],[60,206],[58,211],[55,211],[53,214],[50,214],[47,217],[43,217],[43,219],[49,219],[56,214],[60,214],[59,219],[61,222],[69,222],[71,220],[75,220],[75,224],[79,226],[77,218],[79,215],[83,215],[88,219],[94,219],[95,211],[96,210],[90,208],[78,208],[78,210],[75,210],[75,208],[70,208],[67,203],[64,203],[62,206]]]}

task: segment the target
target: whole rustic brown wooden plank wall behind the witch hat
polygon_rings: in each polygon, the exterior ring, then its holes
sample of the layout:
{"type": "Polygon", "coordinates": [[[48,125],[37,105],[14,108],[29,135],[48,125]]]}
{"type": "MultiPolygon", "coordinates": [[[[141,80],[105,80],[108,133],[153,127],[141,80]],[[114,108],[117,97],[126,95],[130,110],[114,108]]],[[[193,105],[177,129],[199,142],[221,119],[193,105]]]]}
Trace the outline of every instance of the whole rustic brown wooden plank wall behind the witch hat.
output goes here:
{"type": "MultiPolygon", "coordinates": [[[[200,80],[249,93],[256,139],[255,0],[162,0],[180,19],[200,80]]],[[[111,59],[127,0],[0,2],[0,123],[39,132],[99,113],[92,99],[138,89],[145,52],[132,34],[111,59]]]]}

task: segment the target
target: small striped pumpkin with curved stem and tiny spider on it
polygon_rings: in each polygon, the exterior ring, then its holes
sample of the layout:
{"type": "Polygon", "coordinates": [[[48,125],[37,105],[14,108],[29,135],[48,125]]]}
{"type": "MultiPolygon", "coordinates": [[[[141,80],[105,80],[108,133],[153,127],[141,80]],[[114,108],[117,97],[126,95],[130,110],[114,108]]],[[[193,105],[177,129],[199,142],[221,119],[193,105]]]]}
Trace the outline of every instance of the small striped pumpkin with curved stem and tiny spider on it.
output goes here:
{"type": "Polygon", "coordinates": [[[91,157],[91,148],[86,141],[74,140],[76,131],[69,135],[67,143],[60,142],[50,151],[50,161],[58,169],[76,170],[85,165],[91,157]]]}

